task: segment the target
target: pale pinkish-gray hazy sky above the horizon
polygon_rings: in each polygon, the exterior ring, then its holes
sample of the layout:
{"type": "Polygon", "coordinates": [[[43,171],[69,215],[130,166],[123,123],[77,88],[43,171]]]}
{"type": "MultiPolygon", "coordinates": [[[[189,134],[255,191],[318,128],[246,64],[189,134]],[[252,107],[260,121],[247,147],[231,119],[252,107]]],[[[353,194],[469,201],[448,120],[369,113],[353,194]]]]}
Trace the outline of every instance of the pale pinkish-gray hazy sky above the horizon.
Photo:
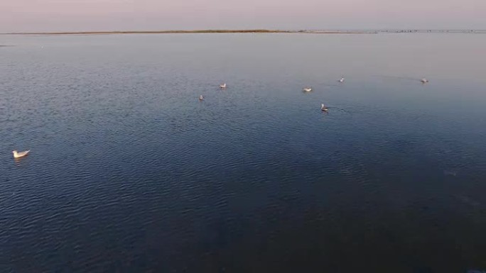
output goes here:
{"type": "Polygon", "coordinates": [[[486,29],[486,0],[0,0],[0,33],[486,29]]]}

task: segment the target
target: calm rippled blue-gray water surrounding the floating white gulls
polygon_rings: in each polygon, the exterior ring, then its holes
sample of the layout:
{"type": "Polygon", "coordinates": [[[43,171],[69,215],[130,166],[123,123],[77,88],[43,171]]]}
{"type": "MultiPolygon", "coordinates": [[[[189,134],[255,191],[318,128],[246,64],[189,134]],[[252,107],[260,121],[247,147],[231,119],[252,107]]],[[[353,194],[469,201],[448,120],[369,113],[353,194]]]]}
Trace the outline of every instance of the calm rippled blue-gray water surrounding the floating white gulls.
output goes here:
{"type": "Polygon", "coordinates": [[[0,45],[0,272],[486,270],[486,35],[0,45]]]}

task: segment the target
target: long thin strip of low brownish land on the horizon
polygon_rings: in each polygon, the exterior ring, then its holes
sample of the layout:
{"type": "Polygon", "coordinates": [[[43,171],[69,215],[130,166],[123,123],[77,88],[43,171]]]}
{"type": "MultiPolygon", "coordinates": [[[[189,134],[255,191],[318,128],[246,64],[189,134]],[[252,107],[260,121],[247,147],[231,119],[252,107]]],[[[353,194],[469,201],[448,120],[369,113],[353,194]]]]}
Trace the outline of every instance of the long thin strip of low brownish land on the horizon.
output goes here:
{"type": "Polygon", "coordinates": [[[1,33],[4,35],[99,35],[99,34],[185,34],[185,33],[315,33],[315,34],[369,34],[376,31],[346,31],[346,30],[121,30],[121,31],[60,31],[60,32],[22,32],[1,33]]]}

